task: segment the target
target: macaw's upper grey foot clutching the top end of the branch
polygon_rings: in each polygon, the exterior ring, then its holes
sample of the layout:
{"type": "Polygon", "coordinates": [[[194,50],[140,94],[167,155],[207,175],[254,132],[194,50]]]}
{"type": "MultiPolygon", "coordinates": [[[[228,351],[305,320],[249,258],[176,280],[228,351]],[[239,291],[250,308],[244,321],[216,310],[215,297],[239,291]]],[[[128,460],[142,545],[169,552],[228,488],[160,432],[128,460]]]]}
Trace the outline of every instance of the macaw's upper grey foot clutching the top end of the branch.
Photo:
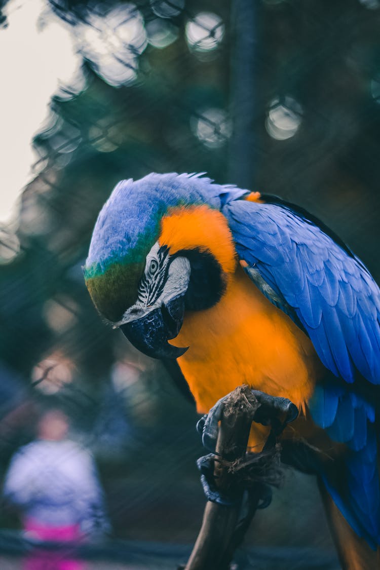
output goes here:
{"type": "MultiPolygon", "coordinates": [[[[289,422],[298,416],[298,408],[288,398],[269,396],[260,390],[252,390],[259,402],[253,421],[271,426],[271,435],[278,437],[289,422]]],[[[202,437],[203,447],[215,454],[216,440],[218,439],[218,424],[222,419],[223,404],[227,396],[220,398],[208,414],[202,416],[197,423],[197,431],[202,437]]],[[[267,442],[268,443],[268,442],[267,442]]]]}

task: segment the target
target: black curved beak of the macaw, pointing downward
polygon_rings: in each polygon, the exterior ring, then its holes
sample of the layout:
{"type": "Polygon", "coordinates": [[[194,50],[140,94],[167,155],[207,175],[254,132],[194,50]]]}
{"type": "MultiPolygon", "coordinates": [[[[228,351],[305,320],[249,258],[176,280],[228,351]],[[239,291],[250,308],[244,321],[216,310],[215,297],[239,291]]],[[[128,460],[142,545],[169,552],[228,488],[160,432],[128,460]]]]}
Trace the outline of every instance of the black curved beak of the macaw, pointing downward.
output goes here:
{"type": "Polygon", "coordinates": [[[141,319],[122,324],[120,328],[130,343],[145,355],[157,359],[176,359],[189,347],[173,347],[167,341],[178,335],[184,313],[185,300],[181,295],[141,319]]]}

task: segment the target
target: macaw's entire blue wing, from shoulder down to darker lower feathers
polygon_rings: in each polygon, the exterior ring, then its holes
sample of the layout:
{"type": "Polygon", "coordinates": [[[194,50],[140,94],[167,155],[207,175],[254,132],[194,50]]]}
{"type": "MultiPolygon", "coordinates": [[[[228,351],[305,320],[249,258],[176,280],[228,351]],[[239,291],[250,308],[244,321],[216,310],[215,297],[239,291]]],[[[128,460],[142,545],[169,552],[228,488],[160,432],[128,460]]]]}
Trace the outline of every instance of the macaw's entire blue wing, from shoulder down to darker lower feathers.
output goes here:
{"type": "Polygon", "coordinates": [[[343,380],[330,375],[309,401],[316,424],[348,449],[340,476],[322,478],[346,520],[375,546],[380,498],[374,402],[355,388],[362,377],[380,384],[379,288],[342,242],[291,207],[236,200],[223,213],[236,251],[248,263],[247,274],[308,334],[325,367],[343,380]]]}

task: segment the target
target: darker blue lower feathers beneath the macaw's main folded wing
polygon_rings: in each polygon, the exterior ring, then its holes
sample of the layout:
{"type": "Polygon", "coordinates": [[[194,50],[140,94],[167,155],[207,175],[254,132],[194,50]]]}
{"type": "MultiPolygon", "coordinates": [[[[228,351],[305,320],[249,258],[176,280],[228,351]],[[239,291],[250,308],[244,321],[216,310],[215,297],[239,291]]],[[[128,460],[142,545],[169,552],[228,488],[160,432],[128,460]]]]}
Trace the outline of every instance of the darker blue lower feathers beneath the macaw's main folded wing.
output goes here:
{"type": "Polygon", "coordinates": [[[333,469],[321,474],[325,487],[352,528],[375,548],[380,543],[375,409],[348,388],[326,379],[316,386],[309,409],[333,441],[348,447],[333,469]]]}

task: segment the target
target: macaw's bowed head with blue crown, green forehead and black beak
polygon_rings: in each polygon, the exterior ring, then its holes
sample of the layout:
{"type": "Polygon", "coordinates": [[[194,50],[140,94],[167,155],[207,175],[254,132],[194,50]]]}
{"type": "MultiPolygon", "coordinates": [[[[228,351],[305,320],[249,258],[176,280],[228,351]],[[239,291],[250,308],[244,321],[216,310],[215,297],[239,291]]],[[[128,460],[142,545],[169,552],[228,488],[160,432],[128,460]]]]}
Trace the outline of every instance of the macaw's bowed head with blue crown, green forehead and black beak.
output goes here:
{"type": "Polygon", "coordinates": [[[141,352],[178,358],[169,344],[186,311],[212,307],[236,259],[223,202],[244,192],[189,174],[116,185],[97,219],[84,276],[99,313],[141,352]]]}

